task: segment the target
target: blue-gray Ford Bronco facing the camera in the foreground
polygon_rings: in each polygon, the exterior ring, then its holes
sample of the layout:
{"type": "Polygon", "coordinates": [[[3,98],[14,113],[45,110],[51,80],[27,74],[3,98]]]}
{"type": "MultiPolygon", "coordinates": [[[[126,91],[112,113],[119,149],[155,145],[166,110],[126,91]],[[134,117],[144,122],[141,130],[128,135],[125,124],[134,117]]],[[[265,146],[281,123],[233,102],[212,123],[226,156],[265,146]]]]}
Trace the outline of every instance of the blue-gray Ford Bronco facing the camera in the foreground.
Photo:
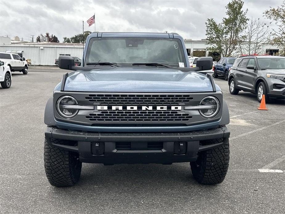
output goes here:
{"type": "MultiPolygon", "coordinates": [[[[221,183],[229,165],[229,111],[211,57],[190,68],[176,33],[91,33],[81,66],[47,101],[44,165],[53,186],[78,182],[82,163],[190,162],[194,179],[221,183]]],[[[114,177],[114,179],[116,179],[114,177]]]]}

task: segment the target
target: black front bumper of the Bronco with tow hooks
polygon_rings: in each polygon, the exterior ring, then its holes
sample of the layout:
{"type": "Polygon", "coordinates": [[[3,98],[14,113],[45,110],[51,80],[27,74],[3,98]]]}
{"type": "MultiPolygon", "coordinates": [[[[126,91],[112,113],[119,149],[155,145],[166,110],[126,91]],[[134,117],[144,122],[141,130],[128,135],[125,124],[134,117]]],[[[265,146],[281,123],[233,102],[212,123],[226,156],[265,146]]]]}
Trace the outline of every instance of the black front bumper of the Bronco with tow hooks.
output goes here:
{"type": "MultiPolygon", "coordinates": [[[[68,131],[48,127],[45,132],[47,142],[65,150],[78,152],[84,163],[164,163],[195,161],[199,151],[222,146],[230,137],[226,127],[211,130],[175,133],[91,133],[68,131]],[[53,139],[73,142],[73,145],[55,144],[53,139]],[[216,144],[201,145],[200,141],[223,138],[216,144]],[[120,143],[131,142],[134,148],[118,148],[120,143]],[[160,142],[161,149],[147,149],[148,143],[160,142]],[[177,154],[177,143],[184,145],[183,154],[177,154]],[[96,146],[95,146],[96,145],[96,146]],[[96,150],[96,147],[100,149],[96,150]],[[176,150],[175,150],[176,148],[176,150]],[[176,153],[176,154],[175,154],[176,153]]],[[[183,147],[182,147],[183,148],[183,147]]]]}

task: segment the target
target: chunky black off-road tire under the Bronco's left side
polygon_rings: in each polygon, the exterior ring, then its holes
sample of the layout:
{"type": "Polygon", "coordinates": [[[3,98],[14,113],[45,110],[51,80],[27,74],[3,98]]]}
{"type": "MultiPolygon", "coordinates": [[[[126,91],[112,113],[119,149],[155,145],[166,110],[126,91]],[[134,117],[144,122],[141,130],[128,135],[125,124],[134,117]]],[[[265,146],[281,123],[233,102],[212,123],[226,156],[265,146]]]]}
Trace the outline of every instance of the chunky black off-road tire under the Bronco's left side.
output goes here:
{"type": "MultiPolygon", "coordinates": [[[[67,144],[67,141],[51,139],[57,144],[67,144]]],[[[51,146],[45,139],[44,164],[47,179],[56,187],[73,186],[78,182],[82,163],[79,154],[51,146]]]]}

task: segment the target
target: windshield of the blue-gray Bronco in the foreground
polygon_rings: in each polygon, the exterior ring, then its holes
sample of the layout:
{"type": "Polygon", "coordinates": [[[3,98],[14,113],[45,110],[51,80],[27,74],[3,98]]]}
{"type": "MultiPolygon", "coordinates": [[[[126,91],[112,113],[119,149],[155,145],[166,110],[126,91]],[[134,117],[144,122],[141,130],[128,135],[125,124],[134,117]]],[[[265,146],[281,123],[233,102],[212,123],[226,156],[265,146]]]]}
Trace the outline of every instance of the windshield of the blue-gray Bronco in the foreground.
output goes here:
{"type": "Polygon", "coordinates": [[[116,63],[121,66],[132,66],[132,63],[187,66],[181,41],[167,38],[92,38],[85,64],[97,62],[116,63]]]}

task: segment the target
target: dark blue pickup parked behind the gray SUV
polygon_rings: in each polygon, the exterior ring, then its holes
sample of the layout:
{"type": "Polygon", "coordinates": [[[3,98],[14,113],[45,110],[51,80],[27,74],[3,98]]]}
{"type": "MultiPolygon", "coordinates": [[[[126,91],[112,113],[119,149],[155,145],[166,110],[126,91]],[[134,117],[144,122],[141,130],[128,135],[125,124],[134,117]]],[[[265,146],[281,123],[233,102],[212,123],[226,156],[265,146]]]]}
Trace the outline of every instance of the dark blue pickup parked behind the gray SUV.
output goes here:
{"type": "Polygon", "coordinates": [[[233,66],[236,57],[222,57],[220,61],[214,66],[214,78],[223,76],[225,80],[228,80],[230,67],[233,66]]]}

